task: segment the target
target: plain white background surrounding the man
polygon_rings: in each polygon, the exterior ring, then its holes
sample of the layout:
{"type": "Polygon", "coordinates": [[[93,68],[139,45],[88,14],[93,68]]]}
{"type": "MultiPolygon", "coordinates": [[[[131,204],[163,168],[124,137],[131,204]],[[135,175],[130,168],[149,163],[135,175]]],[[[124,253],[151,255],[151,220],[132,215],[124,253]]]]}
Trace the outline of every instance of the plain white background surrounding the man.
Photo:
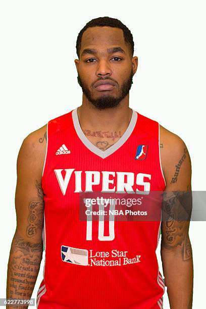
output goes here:
{"type": "MultiPolygon", "coordinates": [[[[90,19],[100,16],[120,19],[133,34],[139,65],[130,107],[184,140],[192,161],[192,189],[205,190],[204,1],[1,1],[0,297],[6,297],[7,263],[16,228],[19,148],[30,132],[81,105],[74,65],[76,38],[90,19]]],[[[205,227],[205,222],[190,223],[195,309],[205,302],[205,227]]],[[[159,250],[160,246],[162,273],[159,250]]],[[[43,262],[33,297],[42,280],[43,262]]]]}

